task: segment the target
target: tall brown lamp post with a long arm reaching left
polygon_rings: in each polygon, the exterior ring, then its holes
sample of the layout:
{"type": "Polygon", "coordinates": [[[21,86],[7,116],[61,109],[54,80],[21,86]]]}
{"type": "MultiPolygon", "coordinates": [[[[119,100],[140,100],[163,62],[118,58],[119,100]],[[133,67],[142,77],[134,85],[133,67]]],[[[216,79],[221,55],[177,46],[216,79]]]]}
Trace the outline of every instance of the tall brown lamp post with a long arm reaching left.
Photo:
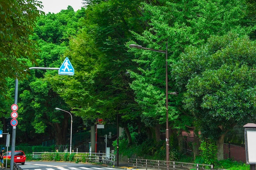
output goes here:
{"type": "Polygon", "coordinates": [[[137,48],[137,49],[146,49],[150,51],[155,51],[159,53],[164,53],[166,56],[166,61],[165,61],[165,92],[166,92],[166,166],[167,170],[169,169],[169,125],[168,125],[168,77],[167,77],[167,43],[166,43],[166,50],[159,50],[159,49],[151,49],[151,48],[145,48],[142,47],[141,45],[135,45],[131,44],[129,45],[130,48],[137,48]]]}

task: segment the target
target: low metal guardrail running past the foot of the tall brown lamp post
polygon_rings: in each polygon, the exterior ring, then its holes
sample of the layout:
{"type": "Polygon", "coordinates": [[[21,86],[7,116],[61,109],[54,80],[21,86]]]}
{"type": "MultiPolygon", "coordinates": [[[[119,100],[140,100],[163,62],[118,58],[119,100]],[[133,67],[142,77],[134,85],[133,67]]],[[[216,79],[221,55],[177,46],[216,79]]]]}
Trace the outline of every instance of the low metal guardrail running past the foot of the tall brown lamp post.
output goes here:
{"type": "Polygon", "coordinates": [[[160,161],[148,159],[128,159],[128,167],[157,169],[157,170],[213,170],[213,165],[200,163],[186,163],[175,161],[160,161]]]}

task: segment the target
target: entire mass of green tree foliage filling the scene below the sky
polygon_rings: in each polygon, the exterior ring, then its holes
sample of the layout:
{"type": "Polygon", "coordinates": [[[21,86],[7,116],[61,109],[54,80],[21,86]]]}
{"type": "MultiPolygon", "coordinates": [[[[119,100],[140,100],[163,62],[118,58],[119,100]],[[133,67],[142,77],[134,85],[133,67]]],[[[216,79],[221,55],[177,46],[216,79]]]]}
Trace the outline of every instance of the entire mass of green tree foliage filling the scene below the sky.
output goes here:
{"type": "MultiPolygon", "coordinates": [[[[2,11],[11,0],[0,2],[2,11]]],[[[17,13],[18,22],[12,22],[10,11],[1,13],[0,63],[6,72],[0,87],[9,90],[1,95],[0,112],[7,131],[11,78],[29,73],[19,83],[20,143],[41,142],[41,134],[47,134],[44,140],[64,144],[70,115],[54,110],[60,107],[74,115],[74,131],[89,128],[97,118],[113,126],[118,119],[127,145],[142,144],[145,157],[164,159],[165,56],[130,49],[130,44],[167,50],[168,92],[179,92],[168,95],[172,160],[183,153],[182,131],[193,130],[194,159],[200,140],[211,139],[221,160],[225,134],[236,124],[254,121],[254,1],[84,0],[86,8],[68,6],[46,15],[39,15],[36,0],[13,2],[11,12],[17,13]],[[9,26],[18,31],[9,34],[9,26]],[[65,57],[76,70],[74,76],[23,71],[59,67],[65,57]]]]}

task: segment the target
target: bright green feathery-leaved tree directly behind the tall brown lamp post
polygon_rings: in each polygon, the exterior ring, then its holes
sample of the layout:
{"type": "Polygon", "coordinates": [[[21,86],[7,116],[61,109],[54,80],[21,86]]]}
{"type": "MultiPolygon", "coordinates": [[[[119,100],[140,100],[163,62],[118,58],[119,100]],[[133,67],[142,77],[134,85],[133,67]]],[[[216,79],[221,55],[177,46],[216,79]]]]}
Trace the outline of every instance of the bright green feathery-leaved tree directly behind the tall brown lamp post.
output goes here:
{"type": "MultiPolygon", "coordinates": [[[[175,86],[176,80],[173,78],[175,76],[171,72],[172,63],[180,60],[179,55],[186,47],[203,45],[211,35],[224,35],[231,29],[250,31],[252,27],[247,26],[252,24],[252,21],[247,20],[246,2],[166,0],[155,6],[142,3],[141,7],[144,11],[142,18],[148,21],[148,27],[142,34],[134,32],[136,42],[130,41],[129,44],[137,43],[143,47],[165,50],[168,43],[168,92],[175,92],[178,89],[180,92],[177,97],[171,95],[168,97],[171,122],[169,125],[174,132],[175,129],[186,130],[186,128],[193,128],[198,132],[192,114],[185,111],[182,106],[181,97],[186,89],[178,88],[179,84],[175,86]]],[[[141,49],[132,49],[132,51],[135,53],[134,61],[139,65],[137,71],[130,71],[134,79],[131,88],[135,91],[135,100],[141,106],[144,117],[150,118],[155,125],[163,124],[165,122],[165,58],[162,54],[153,51],[141,49]]],[[[180,81],[186,82],[186,79],[180,81]]]]}

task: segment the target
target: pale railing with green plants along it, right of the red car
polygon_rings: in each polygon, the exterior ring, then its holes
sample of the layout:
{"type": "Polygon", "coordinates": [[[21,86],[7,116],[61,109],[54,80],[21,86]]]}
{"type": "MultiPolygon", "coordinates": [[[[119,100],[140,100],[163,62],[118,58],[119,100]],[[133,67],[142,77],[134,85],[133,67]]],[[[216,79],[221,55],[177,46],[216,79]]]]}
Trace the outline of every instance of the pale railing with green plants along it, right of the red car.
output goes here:
{"type": "MultiPolygon", "coordinates": [[[[34,159],[46,160],[48,157],[54,158],[56,155],[64,157],[67,152],[33,152],[30,154],[34,159]]],[[[88,153],[88,152],[72,152],[74,154],[74,160],[83,160],[91,163],[103,163],[111,166],[115,166],[115,155],[105,153],[88,153]]],[[[53,161],[53,160],[47,160],[53,161]]]]}

